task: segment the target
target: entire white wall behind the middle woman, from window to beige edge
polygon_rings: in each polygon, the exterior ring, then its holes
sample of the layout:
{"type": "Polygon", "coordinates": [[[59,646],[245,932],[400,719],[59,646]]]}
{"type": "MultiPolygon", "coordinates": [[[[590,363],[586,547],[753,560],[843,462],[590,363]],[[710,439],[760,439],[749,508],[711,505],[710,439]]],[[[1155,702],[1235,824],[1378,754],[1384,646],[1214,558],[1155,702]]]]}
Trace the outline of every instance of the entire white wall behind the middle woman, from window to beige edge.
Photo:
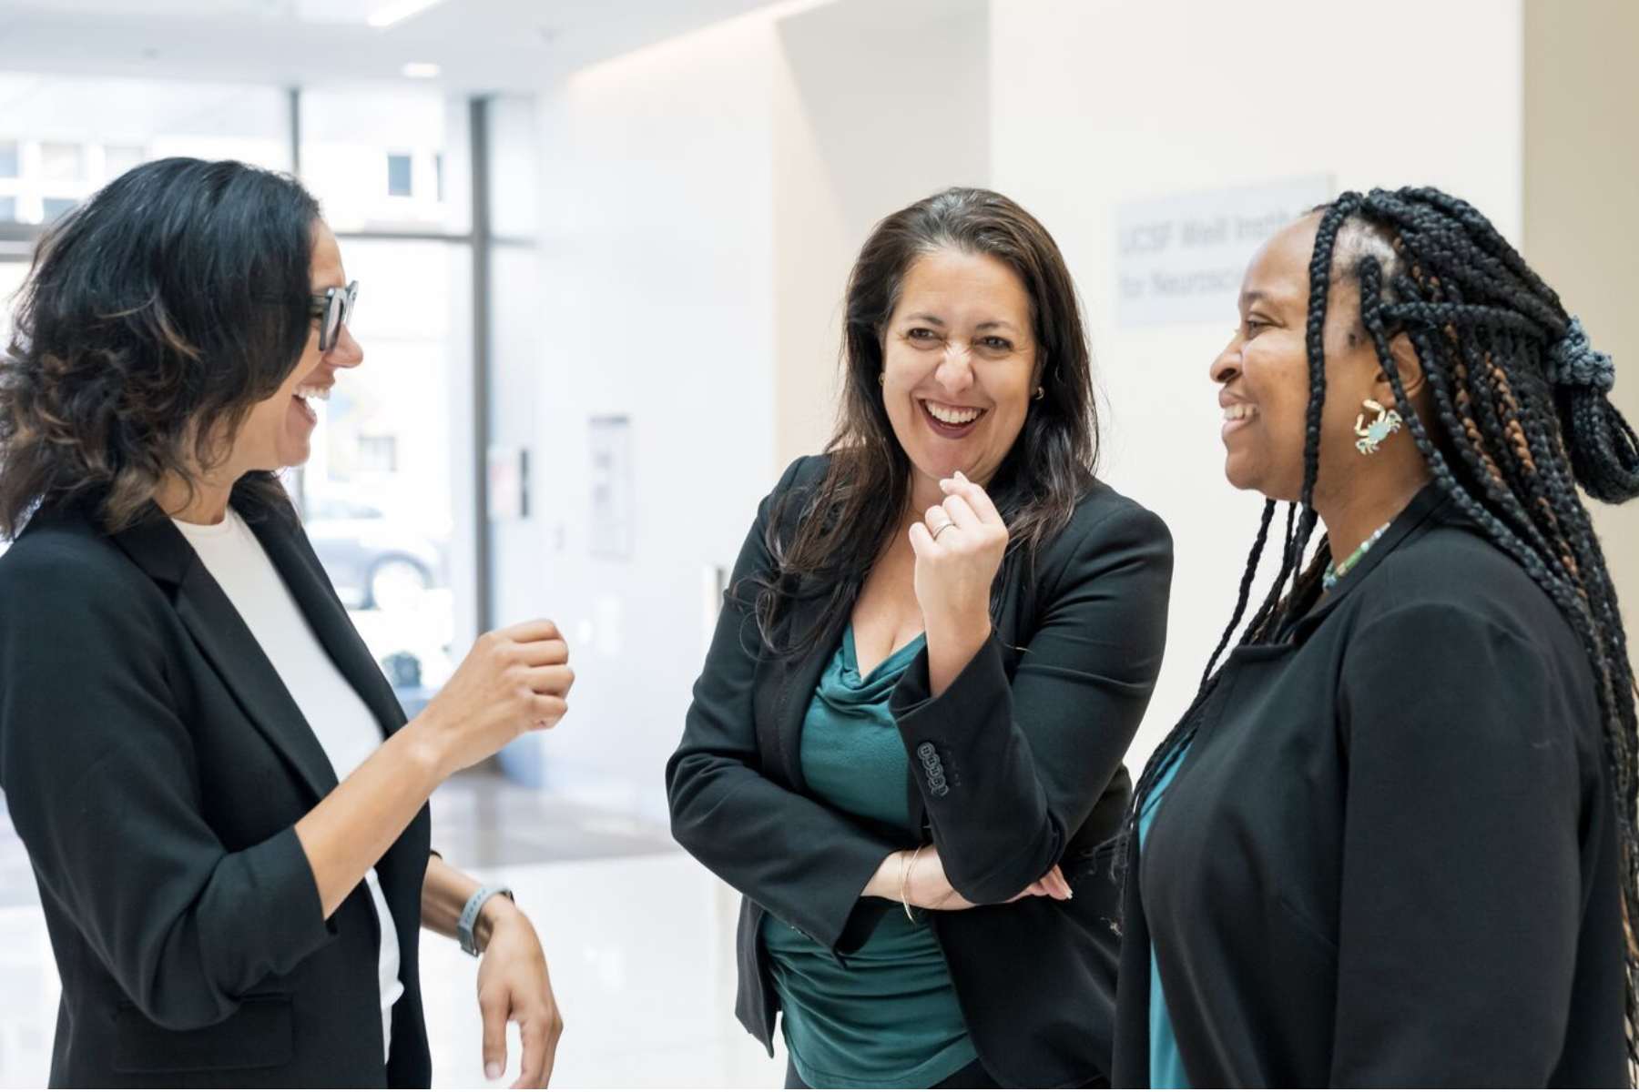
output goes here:
{"type": "Polygon", "coordinates": [[[1121,329],[1116,206],[1321,174],[1431,182],[1518,236],[1519,28],[1519,0],[1378,0],[1370,18],[1308,0],[1255,18],[1185,0],[836,0],[544,93],[536,552],[513,539],[497,580],[529,591],[497,620],[551,612],[575,645],[547,783],[664,814],[703,573],[733,562],[774,475],[828,432],[864,234],[951,183],[993,185],[1059,239],[1095,342],[1105,475],[1177,540],[1141,765],[1228,620],[1259,499],[1223,481],[1206,378],[1234,314],[1121,329]],[[587,417],[606,413],[636,431],[629,562],[588,555],[587,417]]]}

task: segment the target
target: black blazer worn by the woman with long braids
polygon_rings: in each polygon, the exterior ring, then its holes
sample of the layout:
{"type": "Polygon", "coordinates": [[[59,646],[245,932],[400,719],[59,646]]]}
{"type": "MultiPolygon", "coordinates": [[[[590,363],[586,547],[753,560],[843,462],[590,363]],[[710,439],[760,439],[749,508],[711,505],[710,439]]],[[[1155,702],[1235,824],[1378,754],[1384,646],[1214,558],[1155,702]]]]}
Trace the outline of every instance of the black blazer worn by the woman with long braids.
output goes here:
{"type": "Polygon", "coordinates": [[[1290,640],[1231,655],[1128,881],[1195,1087],[1626,1087],[1614,799],[1582,643],[1421,493],[1290,640]]]}

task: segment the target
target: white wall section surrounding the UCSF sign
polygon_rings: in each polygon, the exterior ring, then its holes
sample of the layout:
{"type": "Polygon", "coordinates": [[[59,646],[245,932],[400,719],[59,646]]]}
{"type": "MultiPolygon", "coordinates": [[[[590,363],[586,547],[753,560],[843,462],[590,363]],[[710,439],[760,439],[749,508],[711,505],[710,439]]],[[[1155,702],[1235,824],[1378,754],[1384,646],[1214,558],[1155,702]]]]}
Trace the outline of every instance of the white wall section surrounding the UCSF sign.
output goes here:
{"type": "Polygon", "coordinates": [[[1105,478],[1177,544],[1167,661],[1134,768],[1229,620],[1260,498],[1223,478],[1206,377],[1236,316],[1118,327],[1116,205],[1331,174],[1341,188],[1439,185],[1518,239],[1519,21],[1518,0],[992,5],[995,185],[1054,232],[1085,298],[1105,478]]]}

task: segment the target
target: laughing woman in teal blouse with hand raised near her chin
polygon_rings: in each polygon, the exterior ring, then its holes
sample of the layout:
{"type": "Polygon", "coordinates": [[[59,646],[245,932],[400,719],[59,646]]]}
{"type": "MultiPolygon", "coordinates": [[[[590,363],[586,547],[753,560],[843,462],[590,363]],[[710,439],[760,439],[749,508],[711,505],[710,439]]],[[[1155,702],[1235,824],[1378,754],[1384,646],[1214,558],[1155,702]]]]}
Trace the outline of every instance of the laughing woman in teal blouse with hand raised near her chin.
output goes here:
{"type": "Polygon", "coordinates": [[[1095,850],[1172,542],[1093,476],[1075,288],[1005,196],[875,228],[842,362],[836,435],[762,503],[667,768],[677,840],[744,894],[738,1015],[772,1051],[783,1012],[793,1087],[1103,1084],[1095,850]]]}

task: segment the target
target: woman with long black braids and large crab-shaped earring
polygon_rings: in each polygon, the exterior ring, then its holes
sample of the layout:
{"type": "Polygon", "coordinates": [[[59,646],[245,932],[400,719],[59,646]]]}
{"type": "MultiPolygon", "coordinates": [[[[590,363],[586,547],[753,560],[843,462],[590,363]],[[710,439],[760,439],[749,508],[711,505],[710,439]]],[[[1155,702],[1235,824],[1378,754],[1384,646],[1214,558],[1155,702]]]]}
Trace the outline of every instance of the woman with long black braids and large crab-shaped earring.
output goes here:
{"type": "Polygon", "coordinates": [[[1252,259],[1211,377],[1267,504],[1128,817],[1115,1082],[1631,1084],[1611,359],[1472,206],[1373,190],[1252,259]]]}

